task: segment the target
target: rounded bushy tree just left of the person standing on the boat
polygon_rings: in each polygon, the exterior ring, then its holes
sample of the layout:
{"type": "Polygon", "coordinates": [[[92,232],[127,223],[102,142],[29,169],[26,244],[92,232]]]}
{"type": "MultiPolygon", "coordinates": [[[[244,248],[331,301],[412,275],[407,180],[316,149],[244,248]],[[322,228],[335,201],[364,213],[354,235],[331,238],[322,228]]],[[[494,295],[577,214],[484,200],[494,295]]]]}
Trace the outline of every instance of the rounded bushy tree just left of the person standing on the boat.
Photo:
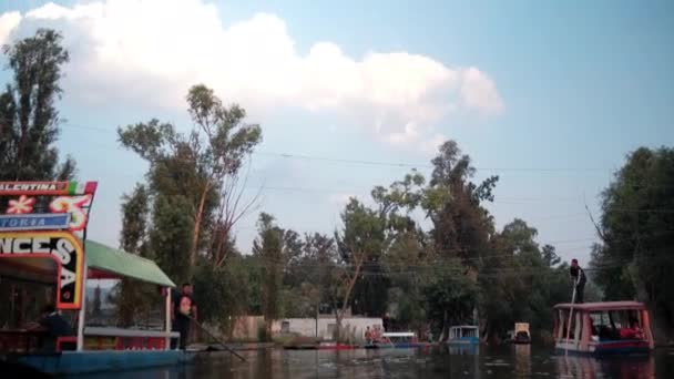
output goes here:
{"type": "Polygon", "coordinates": [[[498,341],[519,321],[529,322],[532,336],[541,337],[553,327],[550,309],[571,300],[569,266],[560,265],[553,246],[541,248],[537,235],[515,218],[491,238],[479,273],[484,339],[498,341]]]}

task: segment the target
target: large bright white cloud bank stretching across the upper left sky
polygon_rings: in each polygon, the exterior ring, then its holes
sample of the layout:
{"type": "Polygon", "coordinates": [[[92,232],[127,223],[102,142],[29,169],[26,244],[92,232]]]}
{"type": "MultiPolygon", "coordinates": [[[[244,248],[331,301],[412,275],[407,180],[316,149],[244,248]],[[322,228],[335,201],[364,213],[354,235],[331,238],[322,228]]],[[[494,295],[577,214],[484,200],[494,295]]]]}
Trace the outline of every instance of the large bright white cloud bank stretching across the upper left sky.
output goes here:
{"type": "Polygon", "coordinates": [[[407,52],[347,55],[335,43],[295,49],[285,22],[259,13],[224,25],[200,0],[53,3],[0,16],[0,41],[61,30],[71,52],[65,89],[90,102],[184,106],[187,88],[213,86],[244,106],[299,106],[370,124],[395,145],[427,144],[453,112],[496,114],[496,84],[476,68],[407,52]]]}

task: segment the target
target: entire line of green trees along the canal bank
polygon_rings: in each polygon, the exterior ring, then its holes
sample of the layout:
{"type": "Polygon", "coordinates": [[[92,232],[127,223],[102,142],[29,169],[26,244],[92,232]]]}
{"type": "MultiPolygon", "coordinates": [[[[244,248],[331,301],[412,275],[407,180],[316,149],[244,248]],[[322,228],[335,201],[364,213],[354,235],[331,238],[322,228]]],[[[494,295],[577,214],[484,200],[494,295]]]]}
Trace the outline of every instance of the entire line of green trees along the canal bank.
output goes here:
{"type": "MultiPolygon", "coordinates": [[[[40,30],[3,51],[13,76],[0,94],[0,178],[73,178],[74,162],[59,164],[54,147],[68,63],[61,35],[40,30]]],[[[439,146],[429,173],[412,170],[372,187],[369,198],[350,198],[334,233],[284,228],[261,212],[253,248],[241,252],[236,224],[259,211],[243,187],[263,130],[204,84],[185,100],[192,127],[154,119],[118,129],[120,146],[149,163],[121,199],[120,247],[155,260],[176,283],[195,283],[203,320],[231,330],[244,315],[270,321],[329,313],[341,337],[350,311],[386,317],[391,328],[430,328],[440,339],[450,325],[476,322],[483,339],[499,340],[515,321],[549,337],[551,307],[571,297],[569,266],[523,219],[497,228],[487,205],[499,177],[476,181],[455,141],[439,146]]],[[[631,153],[602,193],[602,243],[589,268],[599,286],[588,288],[590,299],[646,301],[658,336],[674,325],[673,191],[672,148],[631,153]]],[[[151,293],[122,280],[113,296],[120,322],[133,325],[151,293]]]]}

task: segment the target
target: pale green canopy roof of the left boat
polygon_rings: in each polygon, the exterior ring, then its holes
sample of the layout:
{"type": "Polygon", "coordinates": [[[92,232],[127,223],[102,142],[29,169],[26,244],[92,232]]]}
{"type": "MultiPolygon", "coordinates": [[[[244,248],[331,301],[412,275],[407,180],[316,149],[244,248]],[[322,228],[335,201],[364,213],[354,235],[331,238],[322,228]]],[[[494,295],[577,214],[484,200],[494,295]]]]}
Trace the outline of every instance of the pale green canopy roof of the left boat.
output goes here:
{"type": "MultiPolygon", "coordinates": [[[[152,260],[130,254],[124,250],[105,246],[94,240],[84,245],[86,267],[111,276],[93,276],[99,278],[130,277],[164,287],[175,287],[175,284],[152,260]]],[[[92,277],[90,275],[90,277],[92,277]]]]}

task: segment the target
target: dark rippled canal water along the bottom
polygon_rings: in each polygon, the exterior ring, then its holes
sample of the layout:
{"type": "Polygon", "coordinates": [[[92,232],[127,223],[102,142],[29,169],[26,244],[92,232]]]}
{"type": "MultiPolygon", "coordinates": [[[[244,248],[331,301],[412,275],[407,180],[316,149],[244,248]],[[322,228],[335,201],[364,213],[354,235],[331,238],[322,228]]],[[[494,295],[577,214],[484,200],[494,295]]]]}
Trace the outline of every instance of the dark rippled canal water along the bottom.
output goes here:
{"type": "Polygon", "coordinates": [[[193,366],[95,375],[91,379],[193,378],[674,378],[674,350],[650,357],[593,359],[555,356],[548,348],[435,348],[428,350],[267,350],[212,357],[193,366]]]}

